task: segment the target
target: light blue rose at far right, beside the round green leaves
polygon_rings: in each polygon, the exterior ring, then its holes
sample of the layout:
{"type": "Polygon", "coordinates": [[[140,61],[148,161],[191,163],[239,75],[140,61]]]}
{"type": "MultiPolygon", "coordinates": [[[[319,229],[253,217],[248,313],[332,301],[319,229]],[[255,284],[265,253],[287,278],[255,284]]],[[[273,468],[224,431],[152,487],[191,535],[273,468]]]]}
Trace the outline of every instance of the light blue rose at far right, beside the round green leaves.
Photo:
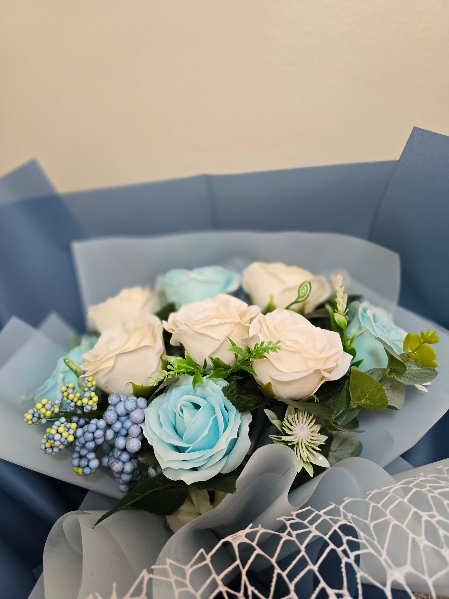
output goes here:
{"type": "Polygon", "coordinates": [[[359,369],[386,368],[388,358],[384,347],[375,337],[386,341],[398,353],[402,353],[402,341],[406,332],[396,326],[391,314],[383,308],[375,307],[365,301],[362,304],[354,301],[348,311],[349,324],[346,330],[348,337],[362,331],[354,340],[357,351],[356,360],[363,358],[359,369]]]}

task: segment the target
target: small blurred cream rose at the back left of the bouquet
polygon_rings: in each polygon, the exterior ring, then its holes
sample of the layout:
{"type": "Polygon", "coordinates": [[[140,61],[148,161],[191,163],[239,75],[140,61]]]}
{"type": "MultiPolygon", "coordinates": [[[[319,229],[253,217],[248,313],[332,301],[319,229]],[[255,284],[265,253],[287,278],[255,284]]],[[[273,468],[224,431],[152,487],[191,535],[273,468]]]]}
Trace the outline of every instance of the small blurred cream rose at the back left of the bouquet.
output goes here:
{"type": "Polygon", "coordinates": [[[148,287],[122,289],[118,295],[102,304],[90,305],[87,310],[87,328],[103,333],[128,320],[144,321],[148,314],[159,310],[159,300],[148,287]]]}

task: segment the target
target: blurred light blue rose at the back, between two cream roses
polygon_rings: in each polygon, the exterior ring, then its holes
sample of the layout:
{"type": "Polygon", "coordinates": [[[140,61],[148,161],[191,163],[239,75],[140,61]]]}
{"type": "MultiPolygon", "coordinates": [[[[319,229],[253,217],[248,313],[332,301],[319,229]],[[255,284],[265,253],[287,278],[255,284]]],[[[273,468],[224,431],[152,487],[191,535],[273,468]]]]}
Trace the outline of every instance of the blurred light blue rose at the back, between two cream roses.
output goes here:
{"type": "Polygon", "coordinates": [[[232,294],[240,286],[240,275],[221,266],[205,266],[186,270],[173,268],[157,277],[156,291],[165,295],[168,304],[177,308],[218,294],[232,294]]]}

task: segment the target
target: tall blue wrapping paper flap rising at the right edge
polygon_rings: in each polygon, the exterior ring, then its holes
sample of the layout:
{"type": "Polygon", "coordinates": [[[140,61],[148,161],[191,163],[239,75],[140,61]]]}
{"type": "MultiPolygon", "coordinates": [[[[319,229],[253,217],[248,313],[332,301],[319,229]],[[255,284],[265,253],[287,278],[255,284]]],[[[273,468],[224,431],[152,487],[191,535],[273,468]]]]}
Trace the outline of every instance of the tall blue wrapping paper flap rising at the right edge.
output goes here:
{"type": "Polygon", "coordinates": [[[448,328],[449,137],[414,128],[370,239],[401,256],[399,303],[448,328]]]}

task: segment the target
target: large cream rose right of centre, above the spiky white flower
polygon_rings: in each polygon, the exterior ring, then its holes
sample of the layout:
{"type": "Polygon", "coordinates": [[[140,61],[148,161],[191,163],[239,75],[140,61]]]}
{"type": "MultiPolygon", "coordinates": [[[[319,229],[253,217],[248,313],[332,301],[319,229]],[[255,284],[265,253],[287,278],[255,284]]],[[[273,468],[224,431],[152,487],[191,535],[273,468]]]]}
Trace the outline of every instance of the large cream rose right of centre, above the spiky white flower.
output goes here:
{"type": "Polygon", "coordinates": [[[349,368],[351,356],[343,351],[340,335],[314,326],[292,310],[259,314],[246,341],[253,347],[260,341],[277,340],[282,347],[279,352],[251,364],[257,383],[269,383],[276,397],[302,400],[326,380],[340,379],[349,368]]]}

